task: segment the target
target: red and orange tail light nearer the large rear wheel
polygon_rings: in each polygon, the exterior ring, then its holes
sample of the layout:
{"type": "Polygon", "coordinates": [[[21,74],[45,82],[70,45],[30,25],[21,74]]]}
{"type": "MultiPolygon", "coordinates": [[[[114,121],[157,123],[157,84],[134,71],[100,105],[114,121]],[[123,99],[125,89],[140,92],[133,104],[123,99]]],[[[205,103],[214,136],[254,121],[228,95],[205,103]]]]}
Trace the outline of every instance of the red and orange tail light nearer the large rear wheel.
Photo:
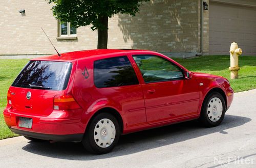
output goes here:
{"type": "Polygon", "coordinates": [[[81,108],[72,95],[54,96],[53,109],[68,110],[81,108]]]}

